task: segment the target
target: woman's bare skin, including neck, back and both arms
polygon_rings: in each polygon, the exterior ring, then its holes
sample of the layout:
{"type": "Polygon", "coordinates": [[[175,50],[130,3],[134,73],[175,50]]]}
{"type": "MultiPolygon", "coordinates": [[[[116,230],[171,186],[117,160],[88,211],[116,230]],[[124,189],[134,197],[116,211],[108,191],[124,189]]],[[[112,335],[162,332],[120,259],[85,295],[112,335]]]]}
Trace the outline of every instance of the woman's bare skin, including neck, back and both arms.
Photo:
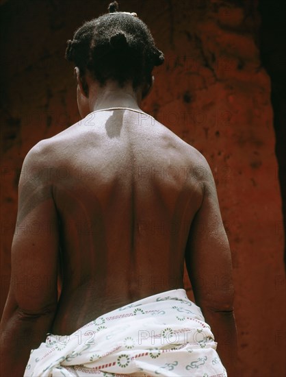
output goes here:
{"type": "Polygon", "coordinates": [[[88,73],[75,75],[83,121],[38,143],[23,163],[2,375],[23,376],[47,332],[70,335],[119,306],[183,288],[186,261],[234,376],[231,253],[207,160],[141,113],[150,84],[101,88],[88,73]],[[94,112],[118,106],[140,112],[94,112]]]}

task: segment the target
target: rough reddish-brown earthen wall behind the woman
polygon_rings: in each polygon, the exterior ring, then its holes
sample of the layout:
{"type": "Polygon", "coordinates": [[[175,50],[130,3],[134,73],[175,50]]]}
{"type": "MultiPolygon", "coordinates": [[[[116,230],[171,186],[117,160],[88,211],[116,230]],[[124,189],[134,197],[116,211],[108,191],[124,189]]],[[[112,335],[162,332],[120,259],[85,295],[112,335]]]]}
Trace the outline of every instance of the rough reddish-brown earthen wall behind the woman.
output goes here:
{"type": "MultiPolygon", "coordinates": [[[[63,57],[66,40],[107,5],[1,2],[1,308],[23,158],[42,138],[79,120],[73,66],[63,57]]],[[[285,376],[283,3],[120,5],[148,24],[166,56],[164,66],[155,69],[155,88],[144,110],[201,151],[216,180],[233,255],[239,376],[285,376]]]]}

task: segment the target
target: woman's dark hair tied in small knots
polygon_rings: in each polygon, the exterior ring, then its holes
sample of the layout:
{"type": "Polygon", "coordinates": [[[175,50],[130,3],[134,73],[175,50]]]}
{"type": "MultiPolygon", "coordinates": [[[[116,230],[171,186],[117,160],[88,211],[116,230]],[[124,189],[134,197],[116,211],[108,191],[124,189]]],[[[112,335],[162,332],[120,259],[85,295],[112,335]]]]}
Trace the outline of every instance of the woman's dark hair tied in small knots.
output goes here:
{"type": "Polygon", "coordinates": [[[107,80],[121,87],[131,80],[134,89],[151,83],[153,67],[163,64],[164,53],[136,14],[118,12],[117,1],[108,10],[76,30],[73,40],[67,41],[66,60],[79,67],[81,76],[88,70],[101,86],[107,80]]]}

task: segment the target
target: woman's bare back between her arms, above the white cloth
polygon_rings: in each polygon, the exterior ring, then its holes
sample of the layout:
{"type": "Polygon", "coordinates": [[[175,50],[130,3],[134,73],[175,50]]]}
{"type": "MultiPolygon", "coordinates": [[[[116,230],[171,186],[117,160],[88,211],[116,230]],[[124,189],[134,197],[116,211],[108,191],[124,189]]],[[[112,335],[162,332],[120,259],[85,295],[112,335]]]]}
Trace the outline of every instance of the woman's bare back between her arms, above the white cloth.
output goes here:
{"type": "Polygon", "coordinates": [[[53,333],[183,287],[199,152],[131,110],[89,114],[49,144],[64,270],[53,333]]]}

